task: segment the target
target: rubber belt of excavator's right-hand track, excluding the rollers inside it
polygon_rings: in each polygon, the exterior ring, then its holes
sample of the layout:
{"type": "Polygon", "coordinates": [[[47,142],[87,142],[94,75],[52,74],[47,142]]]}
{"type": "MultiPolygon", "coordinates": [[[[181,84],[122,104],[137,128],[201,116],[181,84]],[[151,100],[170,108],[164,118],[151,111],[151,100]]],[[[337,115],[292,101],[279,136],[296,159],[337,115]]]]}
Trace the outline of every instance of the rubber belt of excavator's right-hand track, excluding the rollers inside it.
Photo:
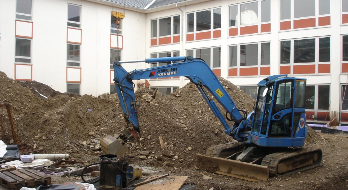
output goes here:
{"type": "MultiPolygon", "coordinates": [[[[291,158],[291,157],[295,157],[295,156],[298,156],[298,155],[301,155],[301,154],[306,154],[306,153],[309,153],[309,152],[315,152],[315,151],[318,151],[318,150],[321,151],[321,149],[319,149],[319,148],[301,147],[301,148],[296,148],[296,149],[288,149],[287,151],[276,152],[276,153],[273,153],[273,154],[266,155],[263,158],[261,165],[268,166],[268,168],[269,168],[269,175],[277,176],[277,175],[279,175],[277,173],[277,166],[278,166],[278,164],[282,160],[287,159],[287,158],[291,158]]],[[[313,163],[312,165],[308,165],[308,166],[305,166],[305,167],[302,167],[302,168],[297,168],[295,170],[286,172],[285,174],[282,174],[282,175],[290,175],[290,174],[293,174],[293,173],[297,173],[297,172],[301,172],[301,171],[305,171],[305,170],[309,170],[311,168],[314,168],[314,167],[320,165],[321,159],[322,158],[318,157],[319,162],[317,161],[316,163],[313,163]]]]}

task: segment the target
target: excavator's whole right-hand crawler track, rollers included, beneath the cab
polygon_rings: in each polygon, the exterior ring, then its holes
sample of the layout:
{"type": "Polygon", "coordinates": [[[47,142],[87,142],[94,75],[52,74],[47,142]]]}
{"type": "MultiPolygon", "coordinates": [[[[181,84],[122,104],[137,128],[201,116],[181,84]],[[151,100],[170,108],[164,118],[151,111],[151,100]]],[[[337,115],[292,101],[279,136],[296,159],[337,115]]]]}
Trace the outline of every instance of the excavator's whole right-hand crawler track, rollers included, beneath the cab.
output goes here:
{"type": "Polygon", "coordinates": [[[322,158],[321,149],[301,147],[266,155],[261,165],[268,166],[271,176],[290,175],[319,166],[322,158]]]}

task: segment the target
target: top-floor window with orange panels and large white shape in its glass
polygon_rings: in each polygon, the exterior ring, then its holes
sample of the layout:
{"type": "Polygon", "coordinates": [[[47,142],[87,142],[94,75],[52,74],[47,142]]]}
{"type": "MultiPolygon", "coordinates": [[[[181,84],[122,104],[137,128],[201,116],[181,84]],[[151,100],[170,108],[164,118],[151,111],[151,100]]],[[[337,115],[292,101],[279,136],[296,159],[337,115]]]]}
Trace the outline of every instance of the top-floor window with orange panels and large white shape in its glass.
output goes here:
{"type": "Polygon", "coordinates": [[[258,0],[231,5],[229,7],[229,36],[270,32],[270,26],[261,28],[261,24],[270,25],[270,12],[270,0],[258,0]],[[257,28],[244,28],[243,31],[240,30],[240,26],[244,27],[250,25],[259,26],[257,28]]]}

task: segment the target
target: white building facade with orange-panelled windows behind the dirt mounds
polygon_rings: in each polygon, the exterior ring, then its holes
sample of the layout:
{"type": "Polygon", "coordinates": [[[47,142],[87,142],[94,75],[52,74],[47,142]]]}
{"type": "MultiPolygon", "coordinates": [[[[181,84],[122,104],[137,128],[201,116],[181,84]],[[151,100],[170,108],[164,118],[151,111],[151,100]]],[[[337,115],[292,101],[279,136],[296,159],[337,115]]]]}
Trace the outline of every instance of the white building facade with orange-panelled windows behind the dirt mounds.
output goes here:
{"type": "Polygon", "coordinates": [[[18,81],[97,96],[114,92],[114,60],[171,56],[203,58],[254,98],[264,77],[304,77],[307,121],[348,123],[348,0],[0,0],[0,71],[18,81]]]}

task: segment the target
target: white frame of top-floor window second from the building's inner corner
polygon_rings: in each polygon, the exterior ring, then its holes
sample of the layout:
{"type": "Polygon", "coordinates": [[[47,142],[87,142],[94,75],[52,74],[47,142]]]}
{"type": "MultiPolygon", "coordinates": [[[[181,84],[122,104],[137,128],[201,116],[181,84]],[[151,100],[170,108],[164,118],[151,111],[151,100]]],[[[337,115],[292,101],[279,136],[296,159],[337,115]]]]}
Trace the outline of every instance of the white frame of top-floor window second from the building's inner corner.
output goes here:
{"type": "MultiPolygon", "coordinates": [[[[213,32],[212,31],[216,31],[216,30],[221,30],[221,23],[222,23],[222,19],[221,19],[221,15],[220,15],[220,27],[219,28],[214,28],[214,10],[215,9],[220,9],[220,12],[222,10],[222,7],[213,7],[213,8],[209,8],[209,9],[202,9],[202,10],[197,10],[197,11],[191,11],[185,14],[185,19],[186,19],[186,34],[196,34],[196,33],[201,33],[201,32],[211,32],[211,38],[213,38],[213,32]],[[210,11],[210,29],[207,30],[200,30],[197,31],[197,13],[199,12],[203,12],[203,11],[210,11]],[[193,13],[193,32],[188,32],[187,29],[187,24],[188,24],[188,14],[192,14],[193,13]]],[[[221,38],[221,37],[220,37],[221,38]]],[[[204,40],[209,40],[209,39],[204,39],[204,40]]],[[[219,39],[219,38],[214,38],[214,39],[219,39]]],[[[201,41],[201,40],[193,40],[193,41],[201,41]]],[[[191,42],[191,41],[190,41],[191,42]]]]}

